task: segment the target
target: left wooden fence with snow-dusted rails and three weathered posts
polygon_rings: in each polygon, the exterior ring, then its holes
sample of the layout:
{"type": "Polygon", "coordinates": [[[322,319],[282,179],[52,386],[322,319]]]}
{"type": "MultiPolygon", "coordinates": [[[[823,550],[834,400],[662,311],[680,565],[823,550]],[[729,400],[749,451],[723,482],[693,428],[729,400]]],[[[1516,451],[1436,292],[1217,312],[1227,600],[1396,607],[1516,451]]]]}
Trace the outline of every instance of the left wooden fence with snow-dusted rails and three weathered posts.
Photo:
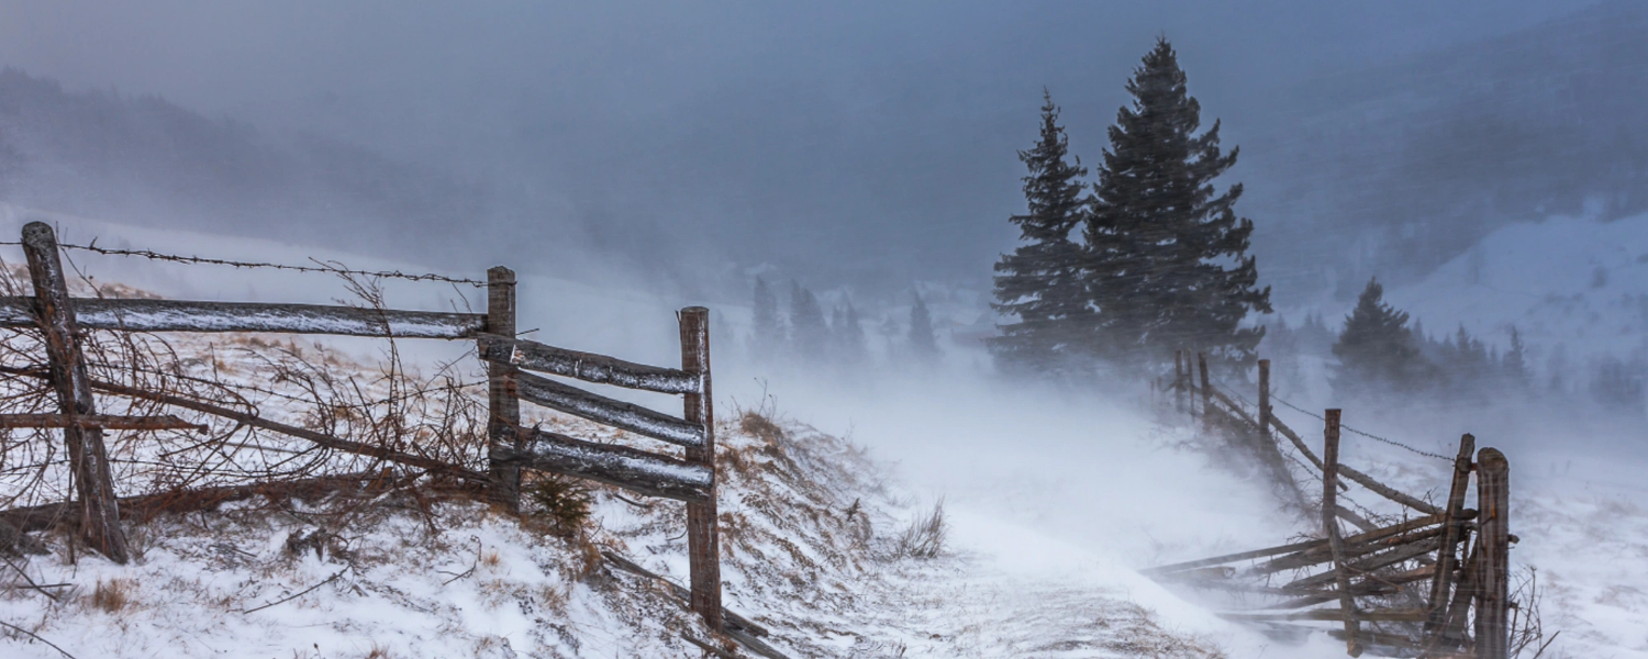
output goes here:
{"type": "MultiPolygon", "coordinates": [[[[115,496],[102,432],[175,430],[198,428],[198,425],[171,415],[101,415],[92,395],[94,390],[99,390],[222,417],[241,425],[308,440],[330,450],[415,466],[425,473],[466,481],[481,486],[489,499],[509,511],[519,509],[521,470],[570,474],[639,494],[681,499],[687,504],[687,552],[691,559],[687,600],[710,628],[723,629],[715,521],[715,423],[710,404],[709,310],[702,306],[681,310],[677,316],[681,367],[674,369],[516,339],[516,278],[514,272],[504,267],[488,270],[485,315],[323,305],[104,300],[69,297],[59,245],[51,227],[44,222],[25,226],[21,245],[28,259],[35,295],[0,297],[0,328],[38,328],[48,367],[36,372],[0,366],[0,372],[12,377],[49,381],[61,414],[0,415],[0,428],[63,428],[68,465],[76,486],[76,502],[0,511],[0,522],[8,522],[18,530],[35,530],[54,524],[59,516],[73,514],[77,517],[77,527],[87,545],[114,562],[129,560],[130,549],[120,526],[122,499],[115,496]],[[475,339],[488,367],[488,470],[481,473],[458,463],[412,455],[392,446],[331,437],[193,397],[94,381],[87,374],[87,359],[82,353],[82,330],[475,339]],[[679,394],[684,399],[684,410],[681,417],[672,417],[524,371],[679,394]],[[686,446],[686,456],[682,460],[630,446],[583,442],[539,428],[524,428],[521,425],[521,400],[686,446]]],[[[372,478],[372,474],[359,476],[372,478]]],[[[321,483],[338,478],[325,476],[308,481],[321,483]]],[[[260,484],[259,488],[269,489],[269,486],[260,484]]],[[[198,488],[124,501],[150,511],[166,501],[216,501],[227,496],[216,489],[198,488]]]]}

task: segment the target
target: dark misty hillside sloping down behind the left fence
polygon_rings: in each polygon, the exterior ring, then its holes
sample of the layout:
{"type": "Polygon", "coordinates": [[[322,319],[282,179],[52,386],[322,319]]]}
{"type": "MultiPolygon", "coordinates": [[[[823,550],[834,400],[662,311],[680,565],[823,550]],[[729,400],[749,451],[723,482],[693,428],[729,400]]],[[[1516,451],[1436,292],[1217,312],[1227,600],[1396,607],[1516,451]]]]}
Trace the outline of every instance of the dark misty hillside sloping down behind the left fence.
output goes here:
{"type": "Polygon", "coordinates": [[[438,257],[402,227],[488,219],[486,188],[330,137],[274,137],[157,96],[0,71],[0,199],[298,244],[438,257]],[[348,222],[339,222],[348,219],[348,222]]]}

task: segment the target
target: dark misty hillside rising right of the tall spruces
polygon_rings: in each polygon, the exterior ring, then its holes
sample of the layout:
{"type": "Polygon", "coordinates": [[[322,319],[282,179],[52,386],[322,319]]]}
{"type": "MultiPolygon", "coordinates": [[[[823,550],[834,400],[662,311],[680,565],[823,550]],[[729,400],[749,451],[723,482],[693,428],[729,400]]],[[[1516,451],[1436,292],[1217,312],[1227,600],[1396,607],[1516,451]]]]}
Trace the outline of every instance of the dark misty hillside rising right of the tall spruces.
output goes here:
{"type": "Polygon", "coordinates": [[[1337,270],[1346,298],[1371,273],[1409,283],[1506,222],[1648,209],[1643,35],[1648,7],[1610,2],[1282,92],[1239,175],[1266,277],[1297,295],[1337,270]]]}

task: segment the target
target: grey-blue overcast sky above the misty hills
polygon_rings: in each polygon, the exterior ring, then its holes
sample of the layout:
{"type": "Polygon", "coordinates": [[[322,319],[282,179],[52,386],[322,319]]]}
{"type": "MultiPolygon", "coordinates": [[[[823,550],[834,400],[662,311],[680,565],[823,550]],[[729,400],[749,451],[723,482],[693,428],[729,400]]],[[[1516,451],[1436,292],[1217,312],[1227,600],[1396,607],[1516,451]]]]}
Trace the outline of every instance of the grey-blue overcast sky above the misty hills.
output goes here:
{"type": "Polygon", "coordinates": [[[554,216],[524,227],[570,222],[615,249],[982,280],[1014,241],[1014,150],[1042,86],[1094,161],[1165,33],[1205,124],[1243,143],[1277,89],[1577,7],[20,0],[0,5],[0,64],[437,163],[554,216]]]}

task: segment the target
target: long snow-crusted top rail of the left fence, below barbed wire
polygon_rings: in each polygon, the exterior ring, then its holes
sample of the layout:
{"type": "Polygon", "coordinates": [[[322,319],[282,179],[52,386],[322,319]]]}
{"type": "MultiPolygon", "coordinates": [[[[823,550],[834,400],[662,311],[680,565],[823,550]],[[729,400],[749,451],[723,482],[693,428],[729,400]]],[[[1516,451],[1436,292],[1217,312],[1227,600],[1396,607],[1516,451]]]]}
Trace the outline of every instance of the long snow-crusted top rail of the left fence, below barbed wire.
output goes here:
{"type": "MultiPolygon", "coordinates": [[[[79,328],[125,331],[267,331],[409,339],[466,339],[486,330],[486,316],[447,311],[396,311],[328,305],[257,301],[74,298],[79,328]]],[[[28,298],[0,298],[0,326],[20,323],[28,298]]]]}

